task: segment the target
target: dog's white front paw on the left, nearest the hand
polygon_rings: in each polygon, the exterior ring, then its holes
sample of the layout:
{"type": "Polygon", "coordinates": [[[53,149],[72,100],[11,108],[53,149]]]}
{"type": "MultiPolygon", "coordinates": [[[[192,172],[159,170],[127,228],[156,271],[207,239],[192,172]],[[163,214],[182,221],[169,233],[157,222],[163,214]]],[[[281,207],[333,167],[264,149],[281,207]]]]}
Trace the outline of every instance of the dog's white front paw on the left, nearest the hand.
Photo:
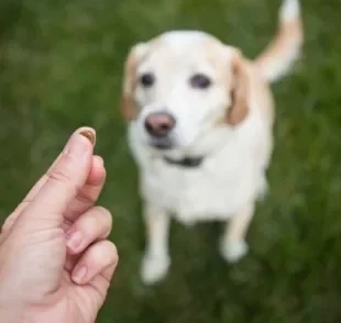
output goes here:
{"type": "Polygon", "coordinates": [[[145,285],[152,285],[162,280],[169,268],[168,256],[144,256],[141,267],[141,279],[145,285]]]}

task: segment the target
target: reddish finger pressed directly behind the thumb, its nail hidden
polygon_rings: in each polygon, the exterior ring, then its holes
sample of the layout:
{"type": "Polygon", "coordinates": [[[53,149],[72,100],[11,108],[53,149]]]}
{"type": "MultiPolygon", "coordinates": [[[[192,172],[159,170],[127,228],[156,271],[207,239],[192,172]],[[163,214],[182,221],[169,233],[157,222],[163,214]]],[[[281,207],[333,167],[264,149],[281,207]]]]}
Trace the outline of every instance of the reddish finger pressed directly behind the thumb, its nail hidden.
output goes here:
{"type": "Polygon", "coordinates": [[[72,201],[65,219],[74,222],[80,214],[89,210],[98,200],[106,181],[106,168],[103,159],[99,156],[94,156],[92,167],[86,185],[78,192],[76,199],[72,201]]]}

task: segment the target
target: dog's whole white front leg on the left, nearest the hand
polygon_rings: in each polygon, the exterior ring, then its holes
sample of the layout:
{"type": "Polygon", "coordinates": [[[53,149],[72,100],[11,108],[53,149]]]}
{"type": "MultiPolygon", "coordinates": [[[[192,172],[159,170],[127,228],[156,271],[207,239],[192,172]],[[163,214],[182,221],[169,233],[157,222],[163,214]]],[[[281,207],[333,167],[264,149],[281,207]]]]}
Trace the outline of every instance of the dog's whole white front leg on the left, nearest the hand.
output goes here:
{"type": "Polygon", "coordinates": [[[170,265],[168,254],[169,214],[162,208],[146,203],[144,207],[146,247],[141,277],[151,285],[163,279],[170,265]]]}

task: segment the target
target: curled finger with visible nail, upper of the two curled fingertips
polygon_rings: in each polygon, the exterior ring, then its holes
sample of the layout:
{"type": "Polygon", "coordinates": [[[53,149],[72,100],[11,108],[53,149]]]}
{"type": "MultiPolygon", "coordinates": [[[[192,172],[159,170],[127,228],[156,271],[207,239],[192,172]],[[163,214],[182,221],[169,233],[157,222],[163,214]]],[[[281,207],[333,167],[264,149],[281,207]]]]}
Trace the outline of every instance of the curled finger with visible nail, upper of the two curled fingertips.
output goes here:
{"type": "Polygon", "coordinates": [[[66,233],[69,254],[82,253],[96,241],[107,238],[112,227],[112,218],[108,210],[94,207],[84,213],[66,233]]]}

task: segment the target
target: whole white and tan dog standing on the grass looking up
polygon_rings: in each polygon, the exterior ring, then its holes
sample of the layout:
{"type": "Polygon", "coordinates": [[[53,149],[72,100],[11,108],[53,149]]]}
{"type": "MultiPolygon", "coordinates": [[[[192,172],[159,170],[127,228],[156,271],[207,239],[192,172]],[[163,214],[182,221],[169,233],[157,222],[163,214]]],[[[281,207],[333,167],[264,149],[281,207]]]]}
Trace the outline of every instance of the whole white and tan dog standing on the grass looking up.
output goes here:
{"type": "Polygon", "coordinates": [[[230,220],[221,254],[231,263],[246,254],[273,151],[270,83],[299,56],[299,11],[298,0],[283,1],[278,33],[254,60],[199,31],[167,32],[131,49],[122,112],[140,169],[145,283],[168,270],[170,216],[185,224],[230,220]]]}

